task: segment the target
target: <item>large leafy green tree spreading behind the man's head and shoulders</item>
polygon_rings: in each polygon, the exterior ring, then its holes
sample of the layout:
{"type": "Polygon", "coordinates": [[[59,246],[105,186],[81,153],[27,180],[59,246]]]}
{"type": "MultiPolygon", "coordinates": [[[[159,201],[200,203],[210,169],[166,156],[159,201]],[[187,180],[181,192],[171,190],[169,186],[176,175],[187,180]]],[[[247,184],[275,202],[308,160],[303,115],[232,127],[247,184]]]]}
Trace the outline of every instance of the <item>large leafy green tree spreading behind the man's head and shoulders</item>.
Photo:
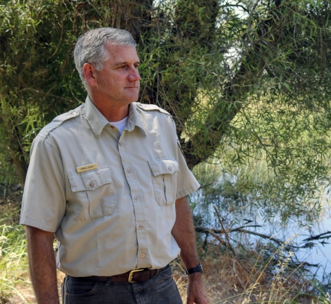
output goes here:
{"type": "Polygon", "coordinates": [[[225,158],[229,145],[234,164],[264,153],[292,193],[283,196],[288,202],[300,191],[312,197],[327,175],[330,1],[0,4],[1,150],[21,184],[33,137],[85,99],[72,50],[79,35],[100,26],[132,32],[142,60],[139,101],[172,114],[191,169],[225,158]]]}

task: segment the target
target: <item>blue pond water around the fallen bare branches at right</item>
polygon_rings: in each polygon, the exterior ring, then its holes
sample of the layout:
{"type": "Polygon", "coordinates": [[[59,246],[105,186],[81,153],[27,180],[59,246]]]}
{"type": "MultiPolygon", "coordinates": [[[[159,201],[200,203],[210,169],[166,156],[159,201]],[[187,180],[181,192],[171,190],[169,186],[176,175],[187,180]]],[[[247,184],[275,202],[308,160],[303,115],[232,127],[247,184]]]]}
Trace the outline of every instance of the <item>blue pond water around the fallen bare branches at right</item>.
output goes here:
{"type": "MultiPolygon", "coordinates": [[[[201,198],[202,193],[197,192],[198,193],[194,194],[192,201],[199,201],[197,196],[201,198]]],[[[273,236],[274,238],[292,244],[294,247],[290,250],[294,252],[294,259],[301,263],[309,263],[311,266],[308,266],[308,269],[311,275],[315,276],[323,285],[329,284],[328,277],[331,277],[331,207],[328,204],[323,207],[318,222],[314,222],[306,227],[301,227],[297,220],[290,220],[286,225],[281,225],[281,222],[277,219],[272,220],[272,222],[265,222],[265,219],[257,210],[252,211],[243,208],[237,212],[229,213],[224,210],[222,212],[222,209],[219,208],[219,212],[221,213],[225,229],[234,229],[247,225],[260,225],[261,227],[247,227],[245,229],[255,231],[259,234],[273,236]],[[305,240],[328,231],[330,231],[330,234],[325,234],[325,236],[323,236],[324,238],[305,240]],[[330,239],[327,238],[327,236],[330,236],[330,239]]],[[[199,213],[205,214],[206,210],[200,209],[198,206],[194,209],[194,214],[197,215],[199,213]]],[[[220,229],[219,220],[217,219],[212,204],[208,206],[207,213],[210,215],[210,219],[208,220],[210,224],[202,226],[220,229]]],[[[237,234],[237,236],[234,234],[237,233],[231,233],[230,237],[240,238],[240,234],[237,234]]],[[[222,236],[222,238],[223,237],[224,236],[222,236]]],[[[266,238],[251,234],[247,234],[247,238],[249,243],[255,243],[257,240],[262,240],[263,243],[270,242],[270,240],[266,238]]],[[[271,241],[270,243],[273,242],[271,241]]],[[[274,243],[274,245],[279,247],[277,243],[274,243]]]]}

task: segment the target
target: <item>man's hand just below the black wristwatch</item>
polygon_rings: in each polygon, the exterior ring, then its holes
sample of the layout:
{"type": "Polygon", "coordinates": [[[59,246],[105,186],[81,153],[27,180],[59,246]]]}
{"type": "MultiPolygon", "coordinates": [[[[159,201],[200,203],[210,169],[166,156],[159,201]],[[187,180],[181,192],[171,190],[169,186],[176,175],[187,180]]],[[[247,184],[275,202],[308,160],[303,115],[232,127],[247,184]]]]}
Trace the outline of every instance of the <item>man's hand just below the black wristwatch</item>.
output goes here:
{"type": "Polygon", "coordinates": [[[202,281],[201,272],[190,274],[188,276],[188,301],[186,304],[209,304],[207,292],[205,292],[205,285],[202,281]]]}

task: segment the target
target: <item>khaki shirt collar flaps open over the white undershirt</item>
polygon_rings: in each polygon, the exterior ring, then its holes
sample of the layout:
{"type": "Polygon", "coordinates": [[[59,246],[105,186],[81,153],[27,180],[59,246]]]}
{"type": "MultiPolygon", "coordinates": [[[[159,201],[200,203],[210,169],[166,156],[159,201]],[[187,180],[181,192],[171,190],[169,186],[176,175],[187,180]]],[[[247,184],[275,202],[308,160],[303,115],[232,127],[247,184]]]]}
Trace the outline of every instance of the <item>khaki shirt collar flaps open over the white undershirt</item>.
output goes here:
{"type": "MultiPolygon", "coordinates": [[[[86,97],[85,109],[86,120],[88,120],[94,135],[99,138],[103,128],[107,126],[109,122],[106,120],[106,117],[100,113],[97,107],[94,106],[90,96],[86,97]]],[[[146,130],[136,109],[136,103],[132,102],[129,106],[128,123],[124,129],[130,132],[134,129],[134,126],[138,126],[141,131],[143,131],[143,135],[146,136],[146,130]]]]}

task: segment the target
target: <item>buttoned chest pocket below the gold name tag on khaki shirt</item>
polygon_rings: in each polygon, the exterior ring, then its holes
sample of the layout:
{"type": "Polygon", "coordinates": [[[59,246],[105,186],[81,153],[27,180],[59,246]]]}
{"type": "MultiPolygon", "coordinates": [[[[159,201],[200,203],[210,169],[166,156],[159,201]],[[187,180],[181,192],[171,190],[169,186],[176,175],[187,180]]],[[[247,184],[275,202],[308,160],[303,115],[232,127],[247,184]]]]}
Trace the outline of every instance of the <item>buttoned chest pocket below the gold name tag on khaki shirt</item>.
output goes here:
{"type": "Polygon", "coordinates": [[[110,216],[116,207],[114,185],[108,166],[68,174],[79,220],[110,216]]]}

